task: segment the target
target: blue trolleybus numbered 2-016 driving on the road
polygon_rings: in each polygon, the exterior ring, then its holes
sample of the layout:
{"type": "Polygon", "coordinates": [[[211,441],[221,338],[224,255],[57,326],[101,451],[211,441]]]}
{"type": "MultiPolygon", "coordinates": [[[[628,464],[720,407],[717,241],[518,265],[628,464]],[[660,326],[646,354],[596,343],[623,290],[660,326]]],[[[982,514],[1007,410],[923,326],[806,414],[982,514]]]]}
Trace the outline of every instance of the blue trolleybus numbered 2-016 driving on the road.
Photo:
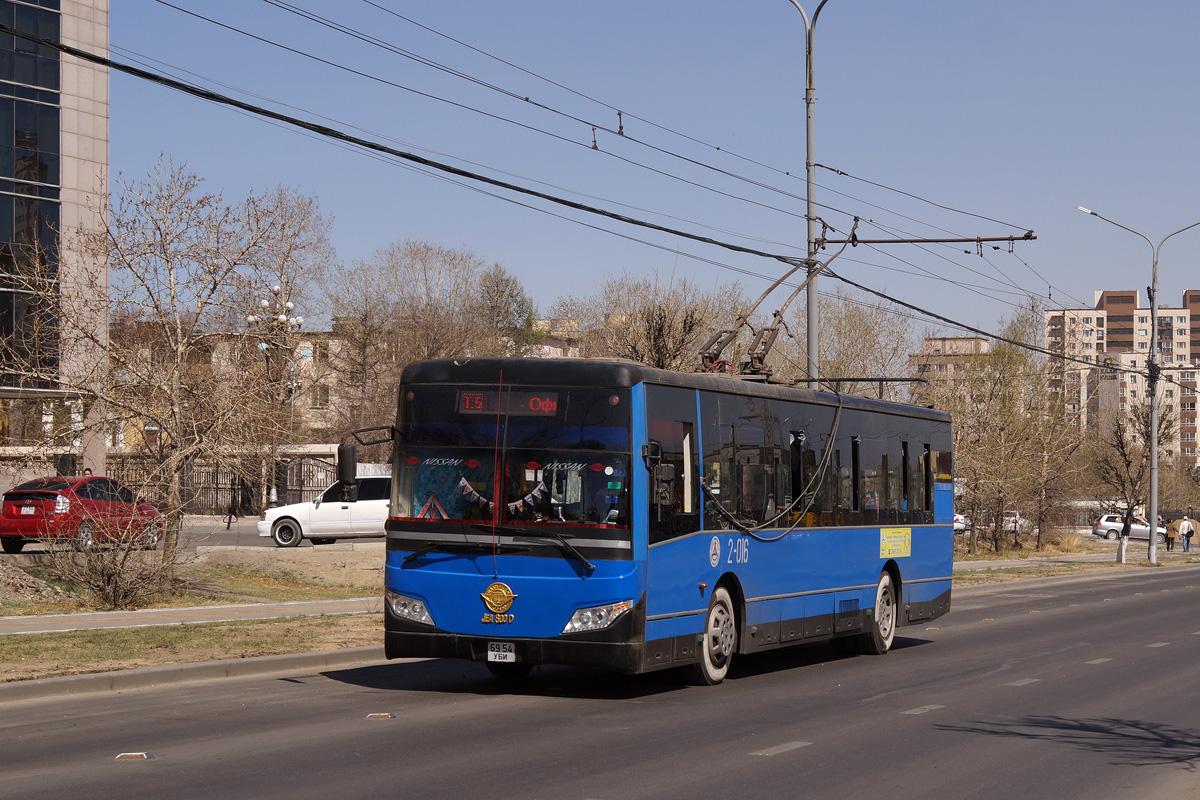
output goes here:
{"type": "Polygon", "coordinates": [[[883,654],[949,610],[950,419],[608,360],[409,365],[389,658],[720,682],[734,654],[883,654]]]}

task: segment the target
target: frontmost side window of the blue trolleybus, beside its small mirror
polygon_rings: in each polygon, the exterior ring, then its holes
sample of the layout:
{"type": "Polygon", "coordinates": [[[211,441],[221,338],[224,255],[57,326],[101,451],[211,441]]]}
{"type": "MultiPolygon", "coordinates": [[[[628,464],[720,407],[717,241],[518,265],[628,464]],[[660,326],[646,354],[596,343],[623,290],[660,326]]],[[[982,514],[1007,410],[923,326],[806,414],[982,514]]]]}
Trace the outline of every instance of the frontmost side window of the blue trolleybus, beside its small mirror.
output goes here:
{"type": "Polygon", "coordinates": [[[650,475],[650,543],[700,530],[696,392],[646,387],[648,443],[642,461],[650,475]]]}

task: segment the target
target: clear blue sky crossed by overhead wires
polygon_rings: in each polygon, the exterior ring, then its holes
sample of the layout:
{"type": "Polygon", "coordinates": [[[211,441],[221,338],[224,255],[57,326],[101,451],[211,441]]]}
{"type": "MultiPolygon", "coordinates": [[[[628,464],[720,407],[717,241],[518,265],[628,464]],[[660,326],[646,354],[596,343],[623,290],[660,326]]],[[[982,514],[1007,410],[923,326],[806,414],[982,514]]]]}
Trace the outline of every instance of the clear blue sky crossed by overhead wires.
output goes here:
{"type": "MultiPolygon", "coordinates": [[[[173,2],[378,80],[155,0],[112,4],[113,58],[571,200],[803,254],[804,29],[787,0],[173,2]],[[616,128],[613,108],[628,136],[600,131],[593,150],[590,126],[616,128]]],[[[1200,219],[1196,30],[1200,4],[1182,1],[829,0],[816,161],[848,175],[818,170],[815,197],[832,206],[821,216],[845,231],[858,215],[872,239],[1038,236],[984,258],[973,246],[862,246],[835,266],[988,330],[1027,294],[1074,306],[1102,288],[1144,293],[1150,246],[1076,206],[1156,242],[1200,219]]],[[[551,213],[530,210],[115,72],[110,95],[114,174],[144,175],[164,154],[229,199],[295,187],[332,217],[346,263],[404,239],[467,247],[520,275],[542,309],[605,272],[738,279],[757,295],[756,275],[784,269],[496,192],[551,213]]],[[[1198,255],[1200,228],[1164,246],[1162,302],[1200,288],[1198,255]]]]}

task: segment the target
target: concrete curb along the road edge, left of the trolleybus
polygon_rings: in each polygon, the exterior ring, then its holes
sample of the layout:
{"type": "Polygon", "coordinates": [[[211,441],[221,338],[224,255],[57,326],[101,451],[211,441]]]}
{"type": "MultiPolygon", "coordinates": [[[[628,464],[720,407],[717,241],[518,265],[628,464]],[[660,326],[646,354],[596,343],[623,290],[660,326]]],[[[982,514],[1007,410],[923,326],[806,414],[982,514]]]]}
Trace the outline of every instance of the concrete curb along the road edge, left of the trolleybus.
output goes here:
{"type": "Polygon", "coordinates": [[[227,661],[202,661],[166,667],[143,667],[115,672],[62,675],[40,680],[14,680],[0,684],[0,703],[41,700],[52,697],[70,697],[92,692],[122,692],[149,688],[168,684],[182,684],[221,678],[248,678],[296,669],[331,669],[355,664],[385,661],[382,645],[322,650],[318,652],[293,652],[254,658],[230,658],[227,661]]]}

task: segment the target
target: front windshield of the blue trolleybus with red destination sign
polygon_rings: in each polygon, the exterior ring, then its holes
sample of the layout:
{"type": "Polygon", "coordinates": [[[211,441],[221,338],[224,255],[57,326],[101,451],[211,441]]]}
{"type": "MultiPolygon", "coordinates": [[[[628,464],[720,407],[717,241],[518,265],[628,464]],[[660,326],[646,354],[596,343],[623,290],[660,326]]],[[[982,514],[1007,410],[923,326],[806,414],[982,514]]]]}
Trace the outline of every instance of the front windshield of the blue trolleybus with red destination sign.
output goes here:
{"type": "Polygon", "coordinates": [[[628,529],[624,390],[407,385],[400,521],[628,529]]]}

